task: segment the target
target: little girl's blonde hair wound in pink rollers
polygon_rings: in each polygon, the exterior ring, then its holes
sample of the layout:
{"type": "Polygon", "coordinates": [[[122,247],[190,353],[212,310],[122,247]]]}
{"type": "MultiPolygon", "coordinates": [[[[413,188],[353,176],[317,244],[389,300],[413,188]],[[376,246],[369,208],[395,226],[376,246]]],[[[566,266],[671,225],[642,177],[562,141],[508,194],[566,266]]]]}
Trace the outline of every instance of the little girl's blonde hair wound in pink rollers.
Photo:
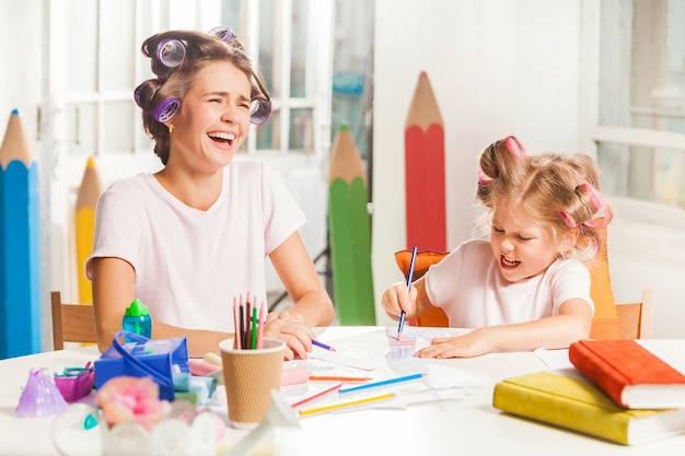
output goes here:
{"type": "Polygon", "coordinates": [[[600,194],[595,161],[583,153],[527,155],[514,137],[488,145],[480,155],[476,201],[483,208],[479,229],[496,207],[515,207],[529,221],[549,230],[556,239],[576,231],[577,242],[565,256],[587,259],[601,243],[599,231],[612,219],[600,194]]]}

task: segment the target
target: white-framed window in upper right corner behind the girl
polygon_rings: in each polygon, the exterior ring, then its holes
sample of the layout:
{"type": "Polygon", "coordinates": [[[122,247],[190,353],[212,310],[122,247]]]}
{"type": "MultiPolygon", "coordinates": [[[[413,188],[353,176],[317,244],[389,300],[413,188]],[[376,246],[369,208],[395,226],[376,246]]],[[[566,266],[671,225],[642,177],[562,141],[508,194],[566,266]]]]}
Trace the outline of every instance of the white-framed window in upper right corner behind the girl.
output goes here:
{"type": "Polygon", "coordinates": [[[604,189],[685,209],[685,3],[601,2],[604,189]]]}

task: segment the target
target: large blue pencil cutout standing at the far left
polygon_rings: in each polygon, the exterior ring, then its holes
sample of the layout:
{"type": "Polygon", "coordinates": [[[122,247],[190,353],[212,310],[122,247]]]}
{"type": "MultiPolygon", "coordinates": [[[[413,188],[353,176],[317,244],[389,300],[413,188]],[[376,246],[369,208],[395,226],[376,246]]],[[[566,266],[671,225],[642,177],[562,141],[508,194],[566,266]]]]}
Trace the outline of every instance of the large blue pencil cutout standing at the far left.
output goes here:
{"type": "Polygon", "coordinates": [[[14,109],[0,147],[0,359],[40,352],[38,163],[14,109]]]}

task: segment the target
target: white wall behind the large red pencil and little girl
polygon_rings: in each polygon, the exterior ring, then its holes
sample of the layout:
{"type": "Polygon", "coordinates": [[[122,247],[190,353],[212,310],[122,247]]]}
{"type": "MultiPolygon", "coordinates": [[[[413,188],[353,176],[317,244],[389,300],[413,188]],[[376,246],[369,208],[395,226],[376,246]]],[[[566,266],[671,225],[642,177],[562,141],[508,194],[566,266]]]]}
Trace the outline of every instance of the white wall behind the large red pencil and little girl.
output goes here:
{"type": "MultiPolygon", "coordinates": [[[[494,140],[515,135],[530,151],[594,153],[599,38],[595,0],[376,0],[373,274],[376,302],[402,276],[405,245],[404,124],[427,71],[445,131],[448,247],[471,236],[476,160],[494,140]],[[590,39],[590,43],[588,42],[590,39]]],[[[639,212],[639,210],[638,210],[639,212]]],[[[680,211],[682,212],[682,211],[680,211]]],[[[617,301],[654,288],[655,337],[685,337],[684,229],[634,222],[622,204],[609,225],[617,301]],[[678,237],[680,236],[680,237],[678,237]],[[639,246],[639,248],[637,248],[639,246]],[[649,268],[649,272],[646,268],[649,268]],[[683,309],[681,309],[683,308],[683,309]]],[[[660,220],[660,219],[657,219],[660,220]]],[[[657,222],[658,223],[658,222],[657,222]]],[[[376,306],[378,307],[378,306],[376,306]]],[[[376,308],[378,320],[390,324],[376,308]]]]}

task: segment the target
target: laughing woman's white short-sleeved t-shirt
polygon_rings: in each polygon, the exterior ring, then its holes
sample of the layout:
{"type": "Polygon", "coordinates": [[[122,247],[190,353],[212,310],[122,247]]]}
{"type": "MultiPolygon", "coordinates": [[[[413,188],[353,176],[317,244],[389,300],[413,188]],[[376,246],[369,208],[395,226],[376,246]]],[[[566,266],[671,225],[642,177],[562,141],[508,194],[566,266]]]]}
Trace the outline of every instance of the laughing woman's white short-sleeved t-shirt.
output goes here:
{"type": "Polygon", "coordinates": [[[272,171],[234,161],[206,211],[166,191],[151,174],[113,184],[96,207],[91,259],[116,257],[136,271],[136,297],[154,321],[233,331],[233,300],[266,300],[266,257],[306,221],[272,171]]]}

